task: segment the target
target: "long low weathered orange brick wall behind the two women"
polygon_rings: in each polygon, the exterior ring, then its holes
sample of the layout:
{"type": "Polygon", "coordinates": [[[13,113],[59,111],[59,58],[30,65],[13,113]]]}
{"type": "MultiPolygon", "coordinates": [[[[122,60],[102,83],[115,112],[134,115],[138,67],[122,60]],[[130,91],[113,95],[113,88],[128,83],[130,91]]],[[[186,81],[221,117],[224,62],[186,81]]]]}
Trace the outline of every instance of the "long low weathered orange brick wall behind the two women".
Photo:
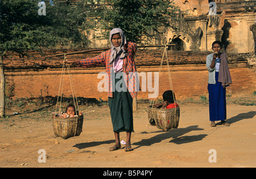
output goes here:
{"type": "MultiPolygon", "coordinates": [[[[32,53],[34,58],[19,58],[15,54],[6,58],[4,65],[7,95],[12,93],[13,99],[57,96],[63,57],[56,57],[55,53],[63,53],[63,50],[46,52],[44,57],[41,57],[38,53],[32,53]]],[[[97,54],[100,54],[100,52],[87,53],[86,57],[96,56],[97,54]]],[[[162,50],[139,50],[135,57],[138,73],[158,72],[162,54],[162,50]]],[[[208,71],[205,67],[205,59],[208,54],[209,52],[168,52],[172,87],[177,99],[187,99],[188,97],[195,99],[201,95],[208,95],[208,71]]],[[[237,93],[253,93],[255,91],[255,67],[247,65],[249,56],[251,54],[228,55],[233,84],[227,89],[227,93],[234,95],[237,93]]],[[[67,58],[81,59],[84,57],[85,54],[74,54],[67,58]]],[[[77,97],[108,99],[107,92],[98,92],[97,90],[97,85],[102,80],[102,78],[98,79],[97,76],[98,73],[105,72],[104,66],[90,69],[73,66],[71,69],[77,97]]],[[[169,89],[168,70],[166,63],[164,63],[160,73],[158,97],[162,97],[162,93],[169,89]]],[[[148,89],[146,92],[138,92],[138,99],[146,99],[148,94],[152,93],[148,92],[148,89]]],[[[68,75],[65,75],[63,94],[65,97],[72,95],[68,75]]]]}

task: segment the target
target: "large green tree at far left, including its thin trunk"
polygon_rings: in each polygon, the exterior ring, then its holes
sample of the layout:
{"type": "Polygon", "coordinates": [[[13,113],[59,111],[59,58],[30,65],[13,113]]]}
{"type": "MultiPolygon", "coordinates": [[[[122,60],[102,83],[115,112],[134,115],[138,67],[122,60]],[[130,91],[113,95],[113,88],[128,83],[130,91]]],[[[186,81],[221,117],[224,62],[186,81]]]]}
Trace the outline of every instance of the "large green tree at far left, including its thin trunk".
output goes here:
{"type": "Polygon", "coordinates": [[[5,116],[5,74],[3,58],[10,53],[30,56],[30,50],[68,46],[81,48],[88,43],[84,2],[73,5],[45,1],[46,15],[39,15],[39,0],[0,1],[0,117],[5,116]]]}

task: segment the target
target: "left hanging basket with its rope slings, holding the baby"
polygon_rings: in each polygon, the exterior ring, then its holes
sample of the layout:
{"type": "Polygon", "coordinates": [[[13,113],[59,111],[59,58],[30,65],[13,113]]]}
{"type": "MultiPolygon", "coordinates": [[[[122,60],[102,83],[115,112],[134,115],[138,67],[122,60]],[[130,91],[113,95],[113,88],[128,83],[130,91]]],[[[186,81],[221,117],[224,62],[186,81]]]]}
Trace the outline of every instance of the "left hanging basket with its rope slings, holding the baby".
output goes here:
{"type": "MultiPolygon", "coordinates": [[[[64,61],[65,61],[65,56],[64,56],[64,61]]],[[[55,114],[57,113],[60,88],[62,86],[60,104],[59,104],[59,110],[61,110],[61,99],[62,99],[64,76],[65,76],[65,69],[66,69],[66,67],[64,65],[64,61],[63,61],[63,67],[62,67],[62,72],[61,72],[60,87],[59,87],[59,93],[58,93],[58,97],[57,97],[55,114]]],[[[76,99],[76,94],[74,97],[75,88],[73,86],[73,79],[72,79],[69,65],[67,65],[67,71],[68,71],[69,81],[71,83],[71,91],[72,91],[72,96],[73,96],[73,103],[75,104],[74,106],[75,106],[75,110],[76,110],[76,116],[63,118],[63,117],[57,117],[56,115],[54,115],[54,117],[52,117],[52,126],[53,126],[54,134],[56,137],[61,137],[63,139],[79,136],[81,134],[82,124],[84,121],[84,116],[83,115],[79,116],[77,113],[77,108],[79,108],[79,105],[78,105],[78,102],[76,99]],[[76,101],[75,101],[75,99],[76,99],[76,101]]]]}

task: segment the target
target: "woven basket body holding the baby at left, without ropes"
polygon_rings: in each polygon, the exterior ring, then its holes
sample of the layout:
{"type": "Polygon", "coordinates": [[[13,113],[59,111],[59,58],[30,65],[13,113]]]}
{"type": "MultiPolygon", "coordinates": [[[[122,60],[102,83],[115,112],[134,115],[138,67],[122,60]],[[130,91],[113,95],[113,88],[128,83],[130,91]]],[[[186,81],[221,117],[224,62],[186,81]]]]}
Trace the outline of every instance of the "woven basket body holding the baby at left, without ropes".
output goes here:
{"type": "Polygon", "coordinates": [[[56,137],[67,139],[70,137],[79,136],[82,131],[82,123],[84,116],[78,117],[53,117],[52,125],[56,137]]]}

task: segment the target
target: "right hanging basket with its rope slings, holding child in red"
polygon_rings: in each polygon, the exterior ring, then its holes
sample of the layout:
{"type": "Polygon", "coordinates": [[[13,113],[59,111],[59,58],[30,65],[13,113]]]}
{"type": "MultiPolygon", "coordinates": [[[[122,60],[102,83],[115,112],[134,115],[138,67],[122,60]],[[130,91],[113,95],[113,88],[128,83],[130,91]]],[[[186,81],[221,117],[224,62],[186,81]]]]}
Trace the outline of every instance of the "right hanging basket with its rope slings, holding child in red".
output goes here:
{"type": "MultiPolygon", "coordinates": [[[[166,46],[164,48],[163,57],[160,63],[158,74],[160,74],[161,68],[163,66],[163,59],[165,54],[167,58],[170,87],[172,89],[171,74],[170,74],[170,67],[169,67],[169,62],[167,57],[166,46]]],[[[158,80],[156,80],[155,87],[158,84],[159,84],[159,75],[158,75],[158,80]]],[[[177,127],[179,126],[179,119],[180,119],[179,106],[175,106],[175,108],[171,108],[171,109],[154,108],[154,102],[155,102],[155,93],[154,93],[153,102],[151,100],[150,106],[148,106],[148,122],[150,123],[150,125],[156,126],[158,127],[158,129],[162,129],[163,131],[168,131],[170,129],[177,129],[177,127]]],[[[175,103],[175,99],[174,99],[174,103],[175,103]]]]}

